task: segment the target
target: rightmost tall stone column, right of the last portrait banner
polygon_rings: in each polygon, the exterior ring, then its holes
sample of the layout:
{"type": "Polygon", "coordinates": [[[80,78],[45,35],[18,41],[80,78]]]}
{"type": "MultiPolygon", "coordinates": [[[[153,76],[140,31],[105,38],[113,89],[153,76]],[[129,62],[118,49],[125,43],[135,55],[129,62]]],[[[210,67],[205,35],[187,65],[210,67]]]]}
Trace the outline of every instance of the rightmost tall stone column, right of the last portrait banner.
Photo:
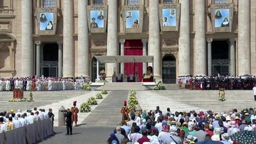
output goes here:
{"type": "Polygon", "coordinates": [[[238,1],[238,75],[251,74],[250,1],[238,1]]]}

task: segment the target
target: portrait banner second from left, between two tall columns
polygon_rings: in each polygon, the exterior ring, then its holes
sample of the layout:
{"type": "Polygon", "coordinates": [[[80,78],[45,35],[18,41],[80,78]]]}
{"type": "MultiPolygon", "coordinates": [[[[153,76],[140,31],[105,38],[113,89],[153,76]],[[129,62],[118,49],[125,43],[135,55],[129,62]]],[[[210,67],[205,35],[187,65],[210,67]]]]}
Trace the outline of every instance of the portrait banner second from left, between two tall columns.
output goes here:
{"type": "Polygon", "coordinates": [[[90,33],[105,33],[107,5],[88,5],[87,20],[90,33]]]}

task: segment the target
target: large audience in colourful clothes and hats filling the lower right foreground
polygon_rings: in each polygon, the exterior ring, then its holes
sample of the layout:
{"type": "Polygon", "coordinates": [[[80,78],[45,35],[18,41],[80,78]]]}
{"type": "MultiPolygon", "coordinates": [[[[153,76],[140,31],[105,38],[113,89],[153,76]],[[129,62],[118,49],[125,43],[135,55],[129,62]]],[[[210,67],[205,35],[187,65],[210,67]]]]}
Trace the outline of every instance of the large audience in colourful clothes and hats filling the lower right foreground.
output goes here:
{"type": "Polygon", "coordinates": [[[107,143],[182,144],[215,140],[231,144],[237,143],[232,141],[231,136],[244,130],[256,132],[256,117],[252,108],[245,108],[240,113],[233,109],[228,113],[200,110],[199,113],[176,111],[172,114],[169,108],[162,113],[158,106],[148,113],[132,111],[129,120],[121,121],[107,143]]]}

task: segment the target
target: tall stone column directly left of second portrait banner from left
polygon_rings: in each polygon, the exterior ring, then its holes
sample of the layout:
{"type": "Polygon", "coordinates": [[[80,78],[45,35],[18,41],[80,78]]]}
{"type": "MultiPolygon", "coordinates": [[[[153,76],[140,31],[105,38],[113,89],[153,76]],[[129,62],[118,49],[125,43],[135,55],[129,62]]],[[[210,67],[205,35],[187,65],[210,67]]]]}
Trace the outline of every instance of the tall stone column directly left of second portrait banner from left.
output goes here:
{"type": "Polygon", "coordinates": [[[78,1],[78,76],[89,78],[89,40],[87,9],[88,1],[78,1]]]}

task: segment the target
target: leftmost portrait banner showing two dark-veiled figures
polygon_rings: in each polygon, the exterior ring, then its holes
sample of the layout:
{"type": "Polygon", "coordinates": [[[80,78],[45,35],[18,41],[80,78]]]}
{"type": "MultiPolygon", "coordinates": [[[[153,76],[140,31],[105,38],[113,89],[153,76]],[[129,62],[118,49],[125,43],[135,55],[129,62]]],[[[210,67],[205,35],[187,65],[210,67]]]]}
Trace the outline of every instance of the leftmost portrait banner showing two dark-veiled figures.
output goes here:
{"type": "Polygon", "coordinates": [[[56,8],[37,9],[37,24],[39,35],[55,35],[57,25],[56,8]]]}

